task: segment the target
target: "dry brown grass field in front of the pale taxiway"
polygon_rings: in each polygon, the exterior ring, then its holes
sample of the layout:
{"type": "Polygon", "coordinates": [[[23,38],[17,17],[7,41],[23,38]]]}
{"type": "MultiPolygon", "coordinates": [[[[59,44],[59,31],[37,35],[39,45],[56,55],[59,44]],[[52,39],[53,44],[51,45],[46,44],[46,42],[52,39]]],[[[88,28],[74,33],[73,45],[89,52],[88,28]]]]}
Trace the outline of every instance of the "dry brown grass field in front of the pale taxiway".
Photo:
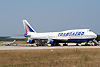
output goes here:
{"type": "Polygon", "coordinates": [[[100,67],[100,49],[0,51],[0,67],[100,67]]]}

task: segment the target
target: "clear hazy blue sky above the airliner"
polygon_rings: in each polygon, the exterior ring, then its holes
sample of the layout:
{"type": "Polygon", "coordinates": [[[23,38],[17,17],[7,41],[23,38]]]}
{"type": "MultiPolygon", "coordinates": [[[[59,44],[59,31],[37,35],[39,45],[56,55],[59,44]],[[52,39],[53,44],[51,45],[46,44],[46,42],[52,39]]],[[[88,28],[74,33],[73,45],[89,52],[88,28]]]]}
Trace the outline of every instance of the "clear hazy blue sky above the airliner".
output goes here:
{"type": "Polygon", "coordinates": [[[100,34],[100,0],[0,0],[0,36],[89,28],[100,34]]]}

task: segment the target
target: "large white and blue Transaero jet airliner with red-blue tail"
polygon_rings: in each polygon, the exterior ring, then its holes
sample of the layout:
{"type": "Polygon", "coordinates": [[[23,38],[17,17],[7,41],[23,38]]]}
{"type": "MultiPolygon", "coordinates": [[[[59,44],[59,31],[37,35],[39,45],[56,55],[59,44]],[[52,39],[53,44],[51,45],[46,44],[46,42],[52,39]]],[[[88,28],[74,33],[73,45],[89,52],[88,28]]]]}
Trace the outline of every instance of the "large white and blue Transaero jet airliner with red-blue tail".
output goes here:
{"type": "Polygon", "coordinates": [[[46,40],[46,45],[51,44],[59,45],[59,43],[82,43],[93,41],[97,35],[90,29],[74,29],[66,30],[61,32],[47,32],[47,33],[37,33],[31,25],[23,20],[25,34],[24,36],[28,38],[27,42],[35,43],[35,40],[46,40]]]}

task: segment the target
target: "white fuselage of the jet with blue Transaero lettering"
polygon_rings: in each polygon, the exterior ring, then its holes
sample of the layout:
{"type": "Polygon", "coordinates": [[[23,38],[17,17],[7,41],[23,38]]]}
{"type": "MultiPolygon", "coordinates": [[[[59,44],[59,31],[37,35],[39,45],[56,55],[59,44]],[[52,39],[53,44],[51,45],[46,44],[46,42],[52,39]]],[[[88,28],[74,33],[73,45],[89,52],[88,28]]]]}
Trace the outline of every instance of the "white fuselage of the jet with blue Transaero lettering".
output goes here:
{"type": "Polygon", "coordinates": [[[51,39],[51,40],[68,40],[68,39],[95,39],[97,35],[90,29],[76,29],[67,30],[62,32],[49,32],[49,33],[32,33],[31,39],[51,39]]]}

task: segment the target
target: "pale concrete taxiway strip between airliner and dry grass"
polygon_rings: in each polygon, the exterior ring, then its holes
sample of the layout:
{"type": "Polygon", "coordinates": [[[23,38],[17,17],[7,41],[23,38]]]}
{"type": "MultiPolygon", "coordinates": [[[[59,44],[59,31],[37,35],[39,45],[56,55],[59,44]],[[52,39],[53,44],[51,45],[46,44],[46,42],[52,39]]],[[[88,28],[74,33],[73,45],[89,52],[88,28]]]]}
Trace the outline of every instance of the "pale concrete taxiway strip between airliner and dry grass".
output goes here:
{"type": "Polygon", "coordinates": [[[22,47],[22,46],[0,46],[0,50],[38,50],[38,49],[81,49],[81,48],[100,48],[100,46],[38,46],[38,47],[22,47]]]}

